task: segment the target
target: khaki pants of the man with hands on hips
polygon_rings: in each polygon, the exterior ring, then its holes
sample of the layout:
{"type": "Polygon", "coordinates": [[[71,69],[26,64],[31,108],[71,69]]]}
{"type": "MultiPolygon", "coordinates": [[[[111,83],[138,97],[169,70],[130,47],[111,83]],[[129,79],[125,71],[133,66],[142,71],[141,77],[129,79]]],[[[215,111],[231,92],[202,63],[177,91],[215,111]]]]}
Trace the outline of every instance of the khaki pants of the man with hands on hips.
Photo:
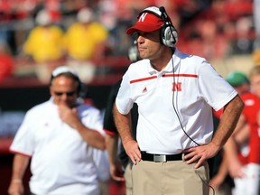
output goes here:
{"type": "Polygon", "coordinates": [[[133,165],[133,195],[209,195],[209,166],[182,161],[133,165]]]}

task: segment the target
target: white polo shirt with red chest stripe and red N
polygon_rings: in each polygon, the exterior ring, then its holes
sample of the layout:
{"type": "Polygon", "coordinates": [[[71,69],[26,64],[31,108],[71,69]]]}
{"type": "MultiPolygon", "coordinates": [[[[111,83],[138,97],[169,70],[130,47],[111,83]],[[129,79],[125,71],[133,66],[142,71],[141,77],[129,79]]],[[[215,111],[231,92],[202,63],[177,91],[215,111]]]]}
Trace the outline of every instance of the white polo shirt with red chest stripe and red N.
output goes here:
{"type": "Polygon", "coordinates": [[[218,110],[236,96],[237,91],[207,60],[176,48],[161,72],[153,69],[150,60],[131,64],[118,91],[116,107],[126,115],[137,103],[141,151],[174,154],[197,145],[191,139],[208,144],[213,133],[212,107],[218,110]]]}

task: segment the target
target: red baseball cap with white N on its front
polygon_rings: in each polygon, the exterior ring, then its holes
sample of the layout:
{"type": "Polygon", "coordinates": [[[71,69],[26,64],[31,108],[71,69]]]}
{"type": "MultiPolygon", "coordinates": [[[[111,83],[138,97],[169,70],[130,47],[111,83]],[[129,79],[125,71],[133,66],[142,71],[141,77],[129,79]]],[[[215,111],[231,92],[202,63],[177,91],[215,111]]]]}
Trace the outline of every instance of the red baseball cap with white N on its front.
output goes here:
{"type": "Polygon", "coordinates": [[[135,25],[126,30],[126,33],[132,34],[136,31],[153,32],[160,29],[163,26],[163,23],[162,18],[156,16],[155,14],[144,12],[138,16],[135,25]]]}

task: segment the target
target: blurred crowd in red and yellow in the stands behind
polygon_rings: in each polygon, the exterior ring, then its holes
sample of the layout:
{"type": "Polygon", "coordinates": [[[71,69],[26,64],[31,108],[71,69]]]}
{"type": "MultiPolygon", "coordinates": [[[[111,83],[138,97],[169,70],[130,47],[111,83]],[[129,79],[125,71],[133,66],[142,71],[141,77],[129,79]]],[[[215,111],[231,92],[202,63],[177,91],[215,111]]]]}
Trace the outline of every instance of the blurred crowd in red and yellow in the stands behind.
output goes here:
{"type": "Polygon", "coordinates": [[[4,62],[0,77],[14,74],[24,64],[36,67],[34,64],[40,63],[35,74],[45,82],[51,70],[69,63],[87,75],[84,81],[88,82],[98,61],[127,56],[135,37],[129,39],[125,29],[149,5],[166,7],[181,37],[181,51],[208,60],[254,51],[253,0],[2,0],[0,57],[4,62]],[[39,26],[45,30],[41,32],[39,26]],[[48,33],[47,27],[51,27],[48,33]],[[80,69],[82,63],[85,71],[80,69]]]}

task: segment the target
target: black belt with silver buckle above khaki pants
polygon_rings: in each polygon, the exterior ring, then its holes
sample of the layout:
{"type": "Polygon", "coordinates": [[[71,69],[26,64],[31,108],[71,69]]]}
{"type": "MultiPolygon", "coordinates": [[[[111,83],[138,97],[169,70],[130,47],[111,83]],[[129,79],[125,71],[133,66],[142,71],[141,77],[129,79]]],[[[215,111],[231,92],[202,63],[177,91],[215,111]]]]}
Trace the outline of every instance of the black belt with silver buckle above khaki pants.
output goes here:
{"type": "Polygon", "coordinates": [[[182,160],[182,153],[177,154],[152,154],[152,153],[145,153],[142,152],[142,160],[143,161],[150,161],[155,163],[163,163],[168,161],[181,161],[182,160]]]}

